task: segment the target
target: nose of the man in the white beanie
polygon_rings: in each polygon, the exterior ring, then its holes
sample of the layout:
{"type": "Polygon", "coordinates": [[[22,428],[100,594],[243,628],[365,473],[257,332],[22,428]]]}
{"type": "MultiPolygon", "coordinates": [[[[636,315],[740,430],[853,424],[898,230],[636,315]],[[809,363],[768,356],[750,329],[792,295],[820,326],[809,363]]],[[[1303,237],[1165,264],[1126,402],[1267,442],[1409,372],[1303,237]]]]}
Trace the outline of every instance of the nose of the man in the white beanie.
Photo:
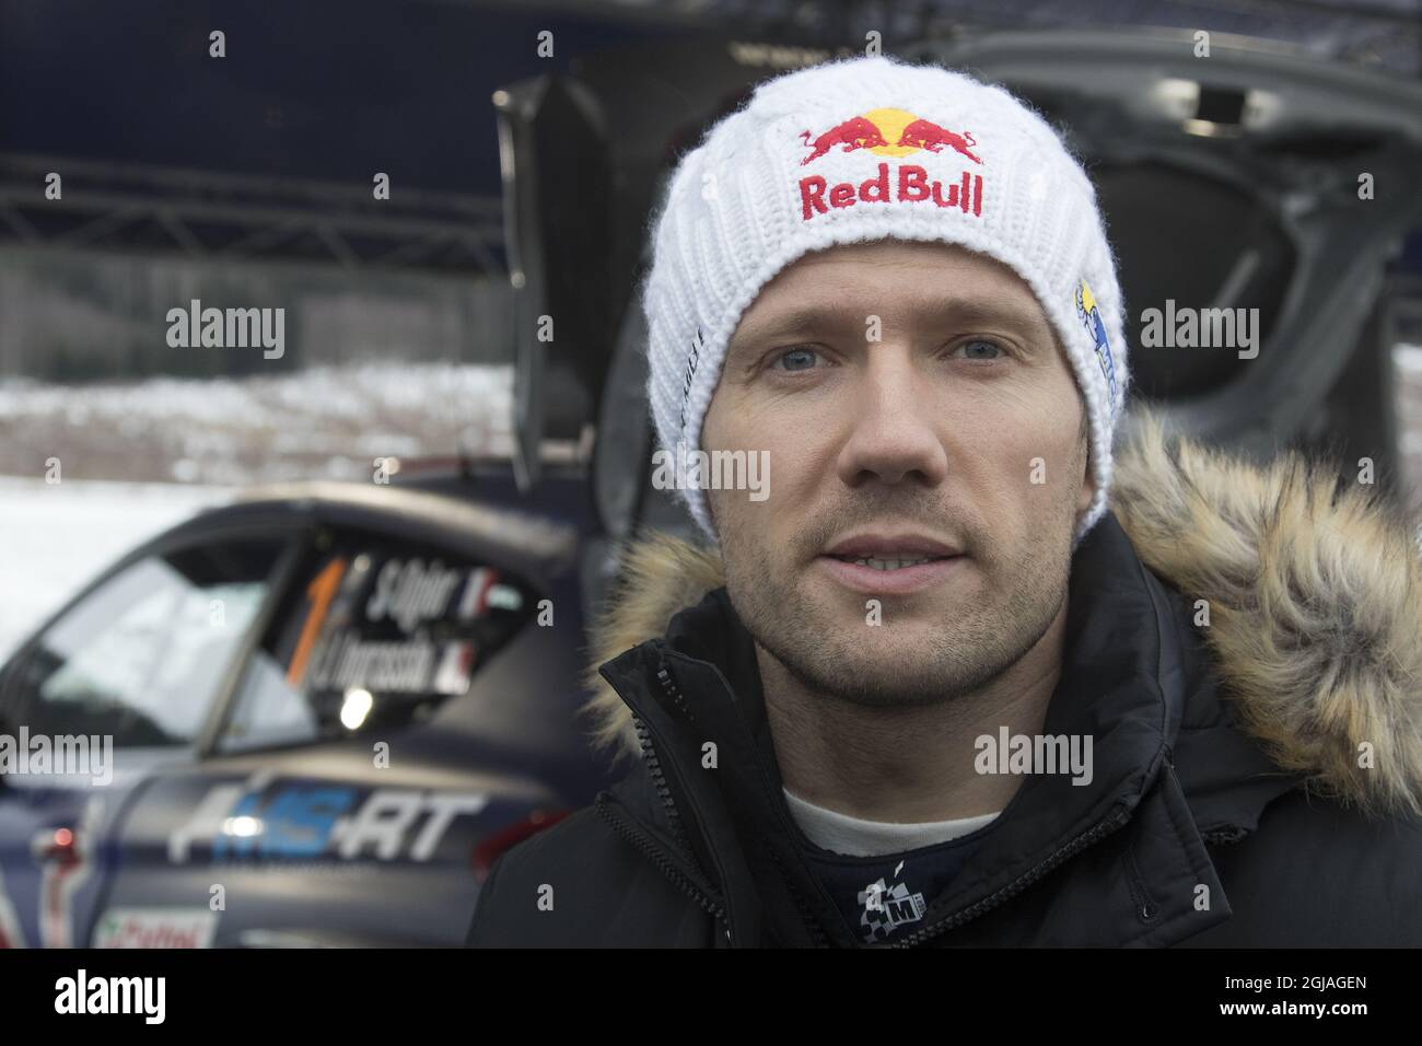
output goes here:
{"type": "Polygon", "coordinates": [[[939,440],[936,404],[907,347],[870,347],[853,397],[853,430],[836,461],[846,487],[914,482],[937,487],[948,461],[939,440]]]}

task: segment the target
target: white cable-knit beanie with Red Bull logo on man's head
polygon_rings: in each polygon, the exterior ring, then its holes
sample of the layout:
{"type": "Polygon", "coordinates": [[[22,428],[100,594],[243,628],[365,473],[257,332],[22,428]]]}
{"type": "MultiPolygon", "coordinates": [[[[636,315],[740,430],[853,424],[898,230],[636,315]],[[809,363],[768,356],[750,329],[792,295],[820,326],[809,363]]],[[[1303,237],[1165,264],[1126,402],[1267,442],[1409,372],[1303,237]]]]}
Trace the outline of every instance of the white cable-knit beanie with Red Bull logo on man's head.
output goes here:
{"type": "MultiPolygon", "coordinates": [[[[884,238],[990,255],[1037,295],[1091,427],[1096,490],[1075,548],[1106,511],[1129,380],[1096,194],[1032,110],[937,67],[850,58],[769,80],[677,165],[643,296],[661,448],[700,450],[727,344],[761,287],[805,253],[884,238]]],[[[715,541],[695,471],[678,490],[715,541]]]]}

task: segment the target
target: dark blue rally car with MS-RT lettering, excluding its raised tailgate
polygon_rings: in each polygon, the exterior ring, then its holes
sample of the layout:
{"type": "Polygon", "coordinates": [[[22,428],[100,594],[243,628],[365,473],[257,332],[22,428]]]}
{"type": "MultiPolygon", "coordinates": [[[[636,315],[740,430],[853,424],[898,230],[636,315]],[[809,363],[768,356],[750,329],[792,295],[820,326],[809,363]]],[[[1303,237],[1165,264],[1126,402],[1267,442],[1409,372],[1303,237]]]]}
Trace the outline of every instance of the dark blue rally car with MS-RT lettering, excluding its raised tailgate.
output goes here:
{"type": "Polygon", "coordinates": [[[0,946],[461,944],[493,857],[609,780],[586,501],[301,484],[127,555],[0,669],[0,946]]]}

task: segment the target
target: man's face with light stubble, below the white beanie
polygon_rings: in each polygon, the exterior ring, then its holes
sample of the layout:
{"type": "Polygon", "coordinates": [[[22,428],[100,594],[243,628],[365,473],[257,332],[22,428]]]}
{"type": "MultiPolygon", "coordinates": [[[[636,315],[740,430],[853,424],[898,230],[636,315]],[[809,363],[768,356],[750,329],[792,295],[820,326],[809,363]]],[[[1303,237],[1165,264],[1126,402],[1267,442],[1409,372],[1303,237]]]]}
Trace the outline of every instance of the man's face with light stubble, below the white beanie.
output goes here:
{"type": "Polygon", "coordinates": [[[701,445],[768,453],[764,501],[707,495],[737,613],[815,692],[951,699],[1062,608],[1092,497],[1082,404],[993,259],[883,241],[789,266],[731,339],[701,445]]]}

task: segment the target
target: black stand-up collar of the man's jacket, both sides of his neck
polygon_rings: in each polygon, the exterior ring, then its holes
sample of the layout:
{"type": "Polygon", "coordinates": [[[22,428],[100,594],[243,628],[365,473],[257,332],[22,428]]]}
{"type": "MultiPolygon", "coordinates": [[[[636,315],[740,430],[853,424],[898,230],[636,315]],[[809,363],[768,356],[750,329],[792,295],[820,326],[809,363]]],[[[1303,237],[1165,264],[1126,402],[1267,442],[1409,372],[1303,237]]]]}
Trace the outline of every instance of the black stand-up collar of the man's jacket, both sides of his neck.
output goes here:
{"type": "MultiPolygon", "coordinates": [[[[1105,517],[1072,562],[1062,675],[1042,729],[1092,737],[1092,778],[1081,786],[1064,774],[1024,777],[963,875],[930,905],[926,926],[987,907],[1132,815],[1170,756],[1199,675],[1183,667],[1197,652],[1185,645],[1179,616],[1172,593],[1105,517]]],[[[681,611],[664,639],[629,650],[603,675],[650,729],[688,848],[741,915],[732,921],[738,932],[748,932],[749,919],[758,934],[764,919],[785,944],[815,944],[815,926],[855,944],[793,842],[754,645],[725,589],[681,611]],[[717,746],[714,774],[698,763],[707,741],[717,746]]],[[[1190,840],[1203,851],[1193,828],[1190,840]]],[[[1179,867],[1183,860],[1182,847],[1138,857],[1158,881],[1197,881],[1199,870],[1179,867]]]]}

